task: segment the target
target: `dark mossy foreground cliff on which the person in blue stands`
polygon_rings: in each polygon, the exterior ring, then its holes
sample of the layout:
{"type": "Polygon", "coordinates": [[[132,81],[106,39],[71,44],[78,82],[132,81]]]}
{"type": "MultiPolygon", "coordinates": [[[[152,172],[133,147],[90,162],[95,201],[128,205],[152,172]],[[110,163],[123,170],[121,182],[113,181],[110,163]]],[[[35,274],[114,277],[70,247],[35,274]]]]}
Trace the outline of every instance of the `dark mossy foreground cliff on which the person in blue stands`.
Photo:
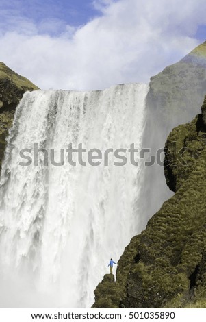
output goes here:
{"type": "Polygon", "coordinates": [[[166,141],[164,169],[175,195],[132,238],[116,282],[105,275],[97,286],[93,308],[182,308],[200,301],[206,307],[205,103],[206,97],[203,113],[166,141]]]}

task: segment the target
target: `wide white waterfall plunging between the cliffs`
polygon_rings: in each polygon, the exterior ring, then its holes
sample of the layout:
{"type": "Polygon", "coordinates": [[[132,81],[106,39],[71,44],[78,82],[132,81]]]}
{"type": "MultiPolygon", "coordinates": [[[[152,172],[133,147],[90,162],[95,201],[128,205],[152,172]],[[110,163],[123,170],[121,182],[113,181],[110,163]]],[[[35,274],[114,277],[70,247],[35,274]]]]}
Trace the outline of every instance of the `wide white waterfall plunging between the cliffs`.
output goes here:
{"type": "Polygon", "coordinates": [[[114,166],[113,153],[108,165],[91,166],[84,153],[82,166],[73,153],[72,166],[65,153],[64,165],[47,166],[43,152],[34,165],[34,143],[55,149],[55,162],[69,143],[102,153],[131,143],[140,149],[147,92],[145,84],[127,84],[95,92],[25,93],[1,172],[1,306],[91,306],[110,258],[117,261],[142,229],[141,167],[130,163],[128,151],[125,166],[114,166]],[[22,149],[31,149],[29,166],[19,165],[26,162],[22,149]]]}

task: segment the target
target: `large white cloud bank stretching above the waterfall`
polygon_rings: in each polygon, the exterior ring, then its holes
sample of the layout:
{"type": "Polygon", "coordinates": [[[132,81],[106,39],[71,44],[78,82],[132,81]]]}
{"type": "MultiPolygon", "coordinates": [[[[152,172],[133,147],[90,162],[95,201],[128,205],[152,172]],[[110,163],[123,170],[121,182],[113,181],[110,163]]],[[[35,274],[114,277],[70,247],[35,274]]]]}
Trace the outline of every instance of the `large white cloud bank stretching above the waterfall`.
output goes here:
{"type": "Polygon", "coordinates": [[[102,16],[79,29],[19,19],[15,31],[0,36],[0,60],[44,89],[149,82],[198,45],[196,29],[206,23],[205,0],[95,3],[102,16]]]}

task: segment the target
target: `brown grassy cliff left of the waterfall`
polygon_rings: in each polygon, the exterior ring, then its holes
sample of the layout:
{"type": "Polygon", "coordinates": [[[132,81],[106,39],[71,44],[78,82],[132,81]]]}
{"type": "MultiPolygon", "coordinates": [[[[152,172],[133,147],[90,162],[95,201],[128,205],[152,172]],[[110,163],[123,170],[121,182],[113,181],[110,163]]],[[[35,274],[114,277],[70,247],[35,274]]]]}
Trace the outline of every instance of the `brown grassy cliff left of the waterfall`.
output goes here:
{"type": "Polygon", "coordinates": [[[23,94],[29,90],[37,90],[27,78],[16,74],[3,62],[0,62],[0,170],[5,150],[5,138],[12,126],[14,112],[23,94]]]}

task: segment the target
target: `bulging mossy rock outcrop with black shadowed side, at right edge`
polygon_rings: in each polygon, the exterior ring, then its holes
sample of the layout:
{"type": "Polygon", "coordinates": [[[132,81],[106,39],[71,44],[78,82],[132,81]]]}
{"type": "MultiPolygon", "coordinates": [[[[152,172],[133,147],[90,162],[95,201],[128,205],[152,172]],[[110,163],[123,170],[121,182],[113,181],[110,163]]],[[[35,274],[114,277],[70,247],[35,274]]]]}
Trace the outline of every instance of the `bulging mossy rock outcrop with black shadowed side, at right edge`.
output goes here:
{"type": "Polygon", "coordinates": [[[165,146],[164,173],[168,186],[174,192],[198,166],[197,160],[205,149],[205,132],[203,114],[199,114],[191,123],[179,125],[173,129],[168,136],[165,146]]]}

